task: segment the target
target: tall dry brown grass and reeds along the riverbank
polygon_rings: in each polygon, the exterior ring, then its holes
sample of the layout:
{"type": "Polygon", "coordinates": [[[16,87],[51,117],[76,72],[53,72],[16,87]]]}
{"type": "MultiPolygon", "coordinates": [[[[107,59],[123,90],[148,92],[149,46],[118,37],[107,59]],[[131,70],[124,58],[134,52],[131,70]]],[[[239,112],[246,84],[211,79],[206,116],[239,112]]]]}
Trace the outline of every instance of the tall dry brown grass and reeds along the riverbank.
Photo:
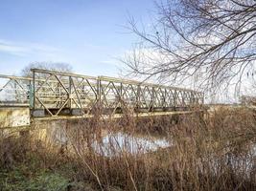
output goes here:
{"type": "Polygon", "coordinates": [[[68,141],[62,144],[35,136],[1,138],[0,161],[2,169],[12,169],[21,163],[31,166],[33,160],[32,169],[58,172],[72,182],[64,190],[88,185],[91,190],[254,190],[255,115],[243,108],[145,118],[130,112],[103,118],[97,112],[91,119],[68,121],[63,127],[68,141]],[[128,135],[125,144],[119,144],[116,132],[128,135]],[[130,139],[150,135],[166,138],[170,147],[145,152],[130,139]],[[137,152],[130,153],[134,144],[137,152]]]}

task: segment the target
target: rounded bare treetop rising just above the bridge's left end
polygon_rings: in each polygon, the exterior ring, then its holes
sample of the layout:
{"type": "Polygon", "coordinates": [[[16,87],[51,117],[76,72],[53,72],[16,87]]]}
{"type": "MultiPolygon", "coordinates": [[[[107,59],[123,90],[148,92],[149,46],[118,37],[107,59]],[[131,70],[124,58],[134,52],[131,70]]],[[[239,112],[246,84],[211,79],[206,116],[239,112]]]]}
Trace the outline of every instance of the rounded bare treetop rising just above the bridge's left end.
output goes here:
{"type": "Polygon", "coordinates": [[[58,62],[34,62],[26,66],[22,71],[22,76],[32,76],[31,69],[45,69],[58,72],[72,72],[72,66],[67,63],[58,62]]]}

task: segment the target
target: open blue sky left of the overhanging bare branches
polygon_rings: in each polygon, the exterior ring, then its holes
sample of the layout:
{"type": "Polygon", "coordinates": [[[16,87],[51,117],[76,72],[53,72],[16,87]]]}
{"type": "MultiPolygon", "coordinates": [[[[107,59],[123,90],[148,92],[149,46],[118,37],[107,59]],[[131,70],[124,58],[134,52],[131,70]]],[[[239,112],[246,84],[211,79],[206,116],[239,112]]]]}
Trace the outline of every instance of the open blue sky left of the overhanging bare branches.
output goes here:
{"type": "Polygon", "coordinates": [[[65,62],[74,72],[118,75],[137,41],[128,15],[150,24],[153,0],[0,0],[0,74],[35,61],[65,62]]]}

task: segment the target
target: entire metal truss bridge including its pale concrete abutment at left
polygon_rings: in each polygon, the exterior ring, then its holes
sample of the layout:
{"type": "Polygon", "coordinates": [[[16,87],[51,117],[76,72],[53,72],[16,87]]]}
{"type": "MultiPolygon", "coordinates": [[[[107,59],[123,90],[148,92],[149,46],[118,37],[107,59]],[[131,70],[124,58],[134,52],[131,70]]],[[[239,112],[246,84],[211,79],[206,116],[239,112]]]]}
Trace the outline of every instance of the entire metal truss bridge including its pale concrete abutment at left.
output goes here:
{"type": "Polygon", "coordinates": [[[32,69],[32,77],[0,74],[0,127],[32,119],[189,113],[203,93],[133,80],[32,69]],[[13,121],[14,119],[14,121],[13,121]],[[2,124],[2,125],[1,125],[2,124]]]}

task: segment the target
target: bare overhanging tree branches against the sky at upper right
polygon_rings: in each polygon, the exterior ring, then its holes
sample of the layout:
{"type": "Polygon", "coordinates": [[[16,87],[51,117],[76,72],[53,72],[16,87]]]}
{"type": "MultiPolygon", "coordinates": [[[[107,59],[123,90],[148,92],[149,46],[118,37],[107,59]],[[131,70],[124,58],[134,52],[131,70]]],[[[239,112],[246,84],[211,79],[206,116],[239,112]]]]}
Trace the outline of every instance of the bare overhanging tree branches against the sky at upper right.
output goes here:
{"type": "Polygon", "coordinates": [[[255,67],[255,0],[168,0],[156,5],[158,17],[150,32],[130,19],[129,29],[142,39],[125,59],[133,74],[172,81],[199,75],[200,85],[217,88],[240,84],[255,67]]]}

